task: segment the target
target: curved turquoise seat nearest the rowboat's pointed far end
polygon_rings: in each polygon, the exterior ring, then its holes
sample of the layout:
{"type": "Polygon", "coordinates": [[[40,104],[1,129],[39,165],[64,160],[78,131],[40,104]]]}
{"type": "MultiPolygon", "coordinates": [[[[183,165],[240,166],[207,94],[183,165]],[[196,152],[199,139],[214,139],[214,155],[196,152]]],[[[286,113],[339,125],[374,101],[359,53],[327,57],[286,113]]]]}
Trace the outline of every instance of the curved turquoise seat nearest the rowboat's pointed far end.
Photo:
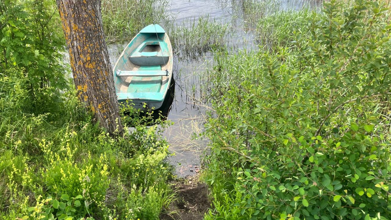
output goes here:
{"type": "Polygon", "coordinates": [[[138,66],[165,65],[169,60],[167,43],[157,37],[144,40],[130,54],[129,60],[138,66]]]}

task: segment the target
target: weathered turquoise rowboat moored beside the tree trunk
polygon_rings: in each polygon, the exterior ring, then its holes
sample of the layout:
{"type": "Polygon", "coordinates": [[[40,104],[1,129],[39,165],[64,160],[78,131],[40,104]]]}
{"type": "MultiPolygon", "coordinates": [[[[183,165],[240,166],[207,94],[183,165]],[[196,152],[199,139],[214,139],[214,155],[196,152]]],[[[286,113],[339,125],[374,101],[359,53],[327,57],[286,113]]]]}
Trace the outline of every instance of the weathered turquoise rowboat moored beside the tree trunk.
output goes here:
{"type": "Polygon", "coordinates": [[[129,42],[113,69],[118,103],[146,110],[161,107],[172,79],[172,47],[158,24],[144,27],[129,42]]]}

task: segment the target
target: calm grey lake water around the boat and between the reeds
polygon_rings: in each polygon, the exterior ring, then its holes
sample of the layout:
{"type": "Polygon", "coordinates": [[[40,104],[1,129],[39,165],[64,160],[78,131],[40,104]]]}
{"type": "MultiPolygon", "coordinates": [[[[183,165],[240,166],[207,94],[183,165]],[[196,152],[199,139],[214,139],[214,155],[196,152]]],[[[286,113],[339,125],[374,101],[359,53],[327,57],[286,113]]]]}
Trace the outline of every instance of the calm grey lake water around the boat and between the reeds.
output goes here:
{"type": "MultiPolygon", "coordinates": [[[[262,1],[262,0],[260,0],[262,1]]],[[[313,0],[315,3],[316,0],[313,0]]],[[[303,0],[271,0],[274,7],[281,10],[300,9],[303,0]]],[[[190,25],[193,19],[208,15],[209,18],[223,24],[228,24],[228,36],[224,45],[229,52],[235,50],[258,49],[256,43],[256,20],[251,14],[244,12],[242,0],[172,0],[167,12],[175,17],[174,25],[190,25]]],[[[170,35],[170,33],[168,32],[170,35]]],[[[111,45],[111,62],[115,63],[118,55],[126,45],[111,45]]],[[[179,51],[183,52],[183,51],[179,51]]],[[[174,51],[174,54],[178,51],[174,51]]],[[[179,53],[178,53],[179,54],[179,53]]],[[[208,140],[200,136],[204,130],[206,115],[211,110],[199,97],[199,74],[213,64],[211,52],[201,53],[192,59],[174,56],[173,77],[175,79],[172,90],[174,94],[167,106],[167,119],[174,124],[163,132],[163,138],[170,144],[170,151],[175,155],[169,158],[175,166],[178,176],[194,175],[202,166],[202,156],[207,153],[208,140]]]]}

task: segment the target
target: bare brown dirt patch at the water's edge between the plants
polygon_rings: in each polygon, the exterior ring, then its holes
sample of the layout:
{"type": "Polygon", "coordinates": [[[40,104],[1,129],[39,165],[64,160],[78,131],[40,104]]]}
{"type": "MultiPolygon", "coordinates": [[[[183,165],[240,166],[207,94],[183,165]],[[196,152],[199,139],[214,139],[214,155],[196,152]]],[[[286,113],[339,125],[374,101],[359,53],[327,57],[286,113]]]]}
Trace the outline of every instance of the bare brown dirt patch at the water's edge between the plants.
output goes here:
{"type": "Polygon", "coordinates": [[[200,183],[197,177],[190,176],[175,182],[173,186],[178,198],[170,207],[169,214],[160,216],[161,220],[202,220],[210,208],[208,186],[200,183]]]}

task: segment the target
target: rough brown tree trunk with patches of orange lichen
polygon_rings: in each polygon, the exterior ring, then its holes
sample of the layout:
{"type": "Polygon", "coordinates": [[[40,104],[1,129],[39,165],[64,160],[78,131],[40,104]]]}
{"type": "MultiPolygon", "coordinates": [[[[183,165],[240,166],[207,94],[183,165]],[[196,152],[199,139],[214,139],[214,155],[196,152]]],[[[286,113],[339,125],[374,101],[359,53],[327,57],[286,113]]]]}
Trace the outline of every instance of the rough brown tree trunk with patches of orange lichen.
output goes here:
{"type": "Polygon", "coordinates": [[[100,0],[56,0],[77,96],[109,133],[122,133],[113,69],[104,40],[100,0]]]}

